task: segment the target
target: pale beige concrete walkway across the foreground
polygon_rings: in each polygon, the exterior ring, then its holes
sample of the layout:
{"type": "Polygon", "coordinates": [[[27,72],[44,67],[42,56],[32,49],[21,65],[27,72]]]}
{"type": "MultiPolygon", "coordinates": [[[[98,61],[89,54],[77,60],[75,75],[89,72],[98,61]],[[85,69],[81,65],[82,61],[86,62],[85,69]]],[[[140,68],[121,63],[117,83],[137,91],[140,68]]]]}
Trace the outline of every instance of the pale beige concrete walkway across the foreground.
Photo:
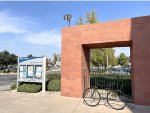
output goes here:
{"type": "Polygon", "coordinates": [[[130,104],[117,111],[104,104],[89,107],[80,98],[63,97],[59,93],[0,91],[0,113],[150,113],[150,107],[130,104]]]}

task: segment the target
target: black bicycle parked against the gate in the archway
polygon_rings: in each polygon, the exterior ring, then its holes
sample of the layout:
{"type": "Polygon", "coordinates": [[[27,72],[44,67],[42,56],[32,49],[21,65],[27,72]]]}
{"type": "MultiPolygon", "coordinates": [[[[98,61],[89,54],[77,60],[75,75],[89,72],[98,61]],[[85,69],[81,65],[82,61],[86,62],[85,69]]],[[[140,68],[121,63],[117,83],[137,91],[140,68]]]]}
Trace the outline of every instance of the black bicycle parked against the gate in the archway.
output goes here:
{"type": "MultiPolygon", "coordinates": [[[[102,98],[97,86],[102,85],[96,84],[96,87],[87,88],[83,93],[84,102],[92,107],[99,105],[102,98]]],[[[107,92],[106,100],[108,105],[115,110],[124,109],[124,107],[127,105],[126,95],[121,90],[113,90],[112,85],[106,85],[105,87],[105,90],[107,92]]]]}

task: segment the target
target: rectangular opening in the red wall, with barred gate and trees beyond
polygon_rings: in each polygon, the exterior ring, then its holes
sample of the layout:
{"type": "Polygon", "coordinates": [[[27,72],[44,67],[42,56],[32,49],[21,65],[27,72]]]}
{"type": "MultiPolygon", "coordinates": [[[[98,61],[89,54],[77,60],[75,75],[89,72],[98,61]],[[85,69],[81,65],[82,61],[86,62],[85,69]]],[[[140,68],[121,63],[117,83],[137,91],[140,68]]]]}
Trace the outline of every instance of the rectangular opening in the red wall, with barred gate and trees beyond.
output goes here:
{"type": "Polygon", "coordinates": [[[127,102],[133,102],[132,42],[83,44],[82,47],[84,90],[97,87],[102,99],[106,99],[110,90],[119,90],[127,102]]]}

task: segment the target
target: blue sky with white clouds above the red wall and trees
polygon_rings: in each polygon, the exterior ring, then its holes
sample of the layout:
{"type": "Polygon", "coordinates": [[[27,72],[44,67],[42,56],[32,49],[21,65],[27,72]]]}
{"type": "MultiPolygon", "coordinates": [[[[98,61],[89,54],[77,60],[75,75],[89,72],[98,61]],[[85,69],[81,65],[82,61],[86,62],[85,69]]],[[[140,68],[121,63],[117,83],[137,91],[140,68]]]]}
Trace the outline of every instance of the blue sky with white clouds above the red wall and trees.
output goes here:
{"type": "MultiPolygon", "coordinates": [[[[94,9],[100,22],[150,15],[150,2],[0,2],[0,51],[18,56],[61,52],[63,15],[71,13],[74,26],[79,16],[94,9]]],[[[129,55],[129,48],[115,48],[129,55]]]]}

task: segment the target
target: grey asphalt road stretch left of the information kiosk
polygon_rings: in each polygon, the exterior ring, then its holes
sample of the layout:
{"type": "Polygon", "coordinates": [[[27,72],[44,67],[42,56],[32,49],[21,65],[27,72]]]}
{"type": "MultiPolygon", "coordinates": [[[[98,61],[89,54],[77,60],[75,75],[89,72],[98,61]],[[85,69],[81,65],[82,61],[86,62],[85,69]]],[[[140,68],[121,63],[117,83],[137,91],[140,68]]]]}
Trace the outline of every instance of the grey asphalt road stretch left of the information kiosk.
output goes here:
{"type": "Polygon", "coordinates": [[[0,91],[9,90],[11,84],[16,83],[17,74],[0,75],[0,91]]]}

